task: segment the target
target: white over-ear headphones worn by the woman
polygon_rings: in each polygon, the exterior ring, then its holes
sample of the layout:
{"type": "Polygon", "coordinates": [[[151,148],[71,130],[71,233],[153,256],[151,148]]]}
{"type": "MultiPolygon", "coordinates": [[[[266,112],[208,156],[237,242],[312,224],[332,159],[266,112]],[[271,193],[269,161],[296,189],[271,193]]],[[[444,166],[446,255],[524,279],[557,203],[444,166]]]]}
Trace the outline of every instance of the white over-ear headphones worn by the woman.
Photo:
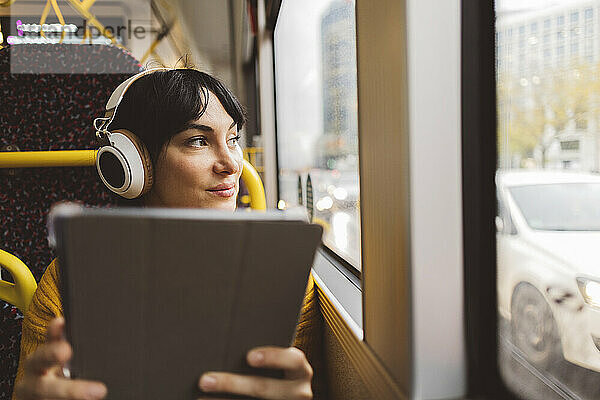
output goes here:
{"type": "Polygon", "coordinates": [[[108,99],[104,117],[94,120],[96,136],[105,143],[96,156],[100,179],[108,189],[126,199],[135,199],[150,190],[153,182],[152,160],[144,143],[133,132],[126,129],[109,131],[108,127],[133,82],[156,71],[170,70],[172,68],[148,69],[127,79],[108,99]]]}

